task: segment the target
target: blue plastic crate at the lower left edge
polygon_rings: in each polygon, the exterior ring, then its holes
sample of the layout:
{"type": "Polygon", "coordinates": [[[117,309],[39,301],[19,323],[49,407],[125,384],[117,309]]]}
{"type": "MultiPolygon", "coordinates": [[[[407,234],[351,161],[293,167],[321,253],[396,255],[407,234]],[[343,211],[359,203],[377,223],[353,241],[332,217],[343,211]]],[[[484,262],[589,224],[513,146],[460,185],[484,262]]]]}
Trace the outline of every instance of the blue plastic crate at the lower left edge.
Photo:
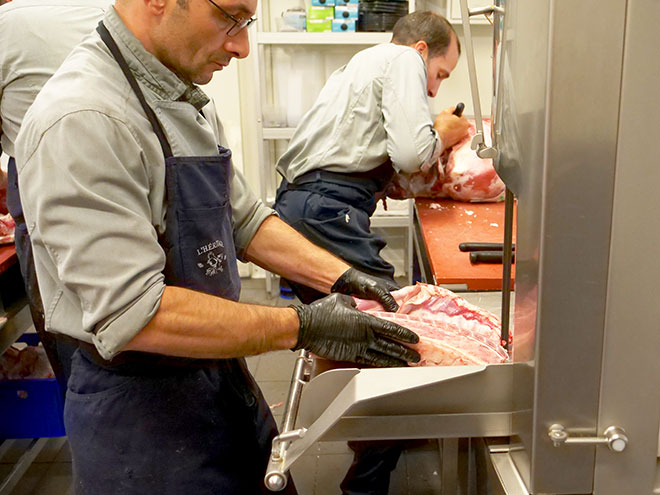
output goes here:
{"type": "Polygon", "coordinates": [[[63,411],[55,378],[0,380],[0,438],[64,436],[63,411]]]}

